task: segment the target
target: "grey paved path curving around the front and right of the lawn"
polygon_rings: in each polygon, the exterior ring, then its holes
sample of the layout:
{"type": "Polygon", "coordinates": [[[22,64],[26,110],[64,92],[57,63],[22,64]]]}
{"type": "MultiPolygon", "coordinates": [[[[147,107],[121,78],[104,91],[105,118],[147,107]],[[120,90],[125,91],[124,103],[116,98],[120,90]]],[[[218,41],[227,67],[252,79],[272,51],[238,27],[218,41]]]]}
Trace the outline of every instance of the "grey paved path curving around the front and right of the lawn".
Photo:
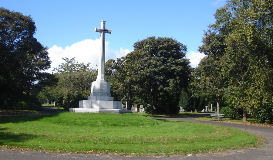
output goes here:
{"type": "Polygon", "coordinates": [[[69,155],[69,154],[49,154],[41,152],[27,152],[27,151],[11,151],[11,150],[0,150],[0,160],[48,160],[48,159],[58,159],[58,160],[74,160],[74,159],[96,159],[96,160],[156,160],[156,159],[166,159],[166,160],[272,160],[273,159],[273,128],[241,125],[241,124],[229,124],[216,121],[197,121],[193,117],[178,117],[178,118],[155,118],[163,120],[176,120],[176,121],[187,121],[187,122],[197,122],[197,123],[207,123],[228,126],[232,128],[237,128],[243,131],[248,131],[252,134],[264,136],[268,143],[266,147],[263,148],[252,148],[252,149],[242,149],[238,151],[226,151],[220,153],[206,153],[206,154],[196,154],[193,156],[116,156],[116,155],[69,155]]]}

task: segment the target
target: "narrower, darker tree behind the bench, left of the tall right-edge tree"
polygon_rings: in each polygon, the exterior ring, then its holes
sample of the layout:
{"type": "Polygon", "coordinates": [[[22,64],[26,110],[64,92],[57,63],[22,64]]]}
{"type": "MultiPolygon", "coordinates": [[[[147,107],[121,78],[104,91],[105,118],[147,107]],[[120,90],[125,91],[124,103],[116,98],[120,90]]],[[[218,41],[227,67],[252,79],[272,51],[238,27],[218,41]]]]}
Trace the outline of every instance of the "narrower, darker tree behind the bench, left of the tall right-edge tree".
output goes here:
{"type": "MultiPolygon", "coordinates": [[[[220,114],[220,101],[225,94],[227,78],[222,76],[222,66],[219,62],[225,51],[224,36],[212,32],[205,32],[203,45],[199,52],[206,56],[200,61],[190,83],[193,97],[205,97],[209,101],[217,102],[217,113],[220,114]]],[[[203,106],[204,107],[204,106],[203,106]]]]}

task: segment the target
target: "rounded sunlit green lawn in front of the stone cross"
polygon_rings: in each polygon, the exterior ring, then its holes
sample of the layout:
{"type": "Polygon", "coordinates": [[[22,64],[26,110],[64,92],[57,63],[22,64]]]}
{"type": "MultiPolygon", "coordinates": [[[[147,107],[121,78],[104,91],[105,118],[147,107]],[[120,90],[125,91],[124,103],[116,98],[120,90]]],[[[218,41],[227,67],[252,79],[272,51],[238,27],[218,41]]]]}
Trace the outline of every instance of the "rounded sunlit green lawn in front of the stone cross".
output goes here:
{"type": "Polygon", "coordinates": [[[184,155],[258,146],[224,126],[155,120],[141,114],[61,112],[0,115],[2,148],[120,155],[184,155]]]}

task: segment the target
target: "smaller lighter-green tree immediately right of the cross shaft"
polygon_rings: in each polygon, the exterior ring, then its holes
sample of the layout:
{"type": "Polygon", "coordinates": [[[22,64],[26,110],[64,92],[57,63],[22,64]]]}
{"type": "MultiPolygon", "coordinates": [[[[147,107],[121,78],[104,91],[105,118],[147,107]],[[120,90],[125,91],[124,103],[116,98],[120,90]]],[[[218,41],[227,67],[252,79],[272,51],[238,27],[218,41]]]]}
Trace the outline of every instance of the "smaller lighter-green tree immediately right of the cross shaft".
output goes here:
{"type": "Polygon", "coordinates": [[[141,69],[140,62],[145,56],[145,53],[136,50],[116,60],[108,60],[105,65],[106,79],[111,82],[115,98],[127,102],[128,109],[136,99],[134,91],[141,69]]]}

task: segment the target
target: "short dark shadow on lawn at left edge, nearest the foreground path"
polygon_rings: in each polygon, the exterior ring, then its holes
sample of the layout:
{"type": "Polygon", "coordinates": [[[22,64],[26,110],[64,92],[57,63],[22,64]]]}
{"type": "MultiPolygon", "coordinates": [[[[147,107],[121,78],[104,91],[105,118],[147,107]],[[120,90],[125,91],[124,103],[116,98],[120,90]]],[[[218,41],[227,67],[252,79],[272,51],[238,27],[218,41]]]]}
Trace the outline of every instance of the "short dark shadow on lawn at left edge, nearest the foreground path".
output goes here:
{"type": "MultiPolygon", "coordinates": [[[[7,128],[5,130],[7,130],[7,128]]],[[[6,145],[12,142],[25,142],[29,139],[36,138],[37,135],[0,131],[0,137],[0,145],[6,145]]]]}

